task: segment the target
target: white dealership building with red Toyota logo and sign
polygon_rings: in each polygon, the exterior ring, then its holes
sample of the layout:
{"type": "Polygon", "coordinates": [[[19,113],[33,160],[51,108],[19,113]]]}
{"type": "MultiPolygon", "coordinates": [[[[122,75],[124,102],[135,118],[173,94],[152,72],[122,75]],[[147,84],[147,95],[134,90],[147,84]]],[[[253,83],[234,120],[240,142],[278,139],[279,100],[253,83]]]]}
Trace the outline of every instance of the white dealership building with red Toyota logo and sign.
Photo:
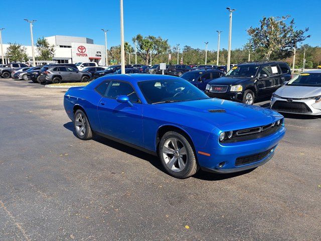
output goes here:
{"type": "MultiPolygon", "coordinates": [[[[106,65],[106,52],[104,45],[94,44],[94,40],[85,37],[71,36],[50,36],[45,37],[50,45],[55,46],[55,56],[53,60],[58,63],[77,63],[77,62],[96,62],[98,65],[106,65]]],[[[5,63],[9,63],[10,59],[6,59],[6,52],[9,44],[4,44],[5,63]]],[[[31,46],[24,46],[27,49],[29,60],[32,60],[31,46]]],[[[35,55],[37,56],[37,47],[35,46],[35,55]]],[[[2,56],[0,51],[0,63],[2,56]]]]}

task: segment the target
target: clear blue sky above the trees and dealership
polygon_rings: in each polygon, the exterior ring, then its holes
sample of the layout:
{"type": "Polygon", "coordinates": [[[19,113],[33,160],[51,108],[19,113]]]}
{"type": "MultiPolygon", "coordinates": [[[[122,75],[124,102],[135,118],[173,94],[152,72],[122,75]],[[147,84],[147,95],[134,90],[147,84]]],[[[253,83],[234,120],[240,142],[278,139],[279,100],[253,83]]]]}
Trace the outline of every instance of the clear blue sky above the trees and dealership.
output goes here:
{"type": "MultiPolygon", "coordinates": [[[[232,48],[242,47],[247,41],[246,29],[257,26],[262,16],[291,15],[296,27],[309,27],[311,38],[304,43],[321,45],[320,0],[269,1],[178,1],[178,0],[123,0],[125,41],[140,33],[168,39],[170,45],[190,45],[209,50],[217,48],[216,30],[221,34],[221,48],[227,48],[229,17],[233,13],[232,48]]],[[[8,1],[0,0],[2,11],[0,28],[3,42],[30,45],[29,25],[23,19],[35,19],[34,38],[52,35],[88,37],[95,44],[104,44],[102,28],[108,32],[108,47],[120,43],[119,0],[66,1],[8,1]],[[14,3],[14,4],[13,4],[14,3]],[[48,4],[46,4],[48,3],[48,4]]]]}

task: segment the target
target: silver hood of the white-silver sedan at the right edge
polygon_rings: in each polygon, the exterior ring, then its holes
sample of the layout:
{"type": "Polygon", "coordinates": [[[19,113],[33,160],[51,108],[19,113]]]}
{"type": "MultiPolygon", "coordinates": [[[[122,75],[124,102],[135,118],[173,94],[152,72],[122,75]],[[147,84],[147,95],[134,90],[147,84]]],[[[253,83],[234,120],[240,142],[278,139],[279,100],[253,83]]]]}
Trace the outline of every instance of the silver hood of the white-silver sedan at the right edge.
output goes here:
{"type": "Polygon", "coordinates": [[[284,85],[275,91],[281,97],[305,98],[321,95],[321,87],[284,85]]]}

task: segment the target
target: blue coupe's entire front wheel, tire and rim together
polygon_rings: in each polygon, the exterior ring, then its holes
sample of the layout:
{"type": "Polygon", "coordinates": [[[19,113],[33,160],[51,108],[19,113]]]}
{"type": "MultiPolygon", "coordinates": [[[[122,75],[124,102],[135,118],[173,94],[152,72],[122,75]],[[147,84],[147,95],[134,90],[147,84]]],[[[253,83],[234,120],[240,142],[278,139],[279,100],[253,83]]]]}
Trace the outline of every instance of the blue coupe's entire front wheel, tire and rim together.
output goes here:
{"type": "Polygon", "coordinates": [[[199,169],[192,143],[178,132],[167,132],[159,143],[159,158],[166,171],[176,178],[188,178],[199,169]]]}

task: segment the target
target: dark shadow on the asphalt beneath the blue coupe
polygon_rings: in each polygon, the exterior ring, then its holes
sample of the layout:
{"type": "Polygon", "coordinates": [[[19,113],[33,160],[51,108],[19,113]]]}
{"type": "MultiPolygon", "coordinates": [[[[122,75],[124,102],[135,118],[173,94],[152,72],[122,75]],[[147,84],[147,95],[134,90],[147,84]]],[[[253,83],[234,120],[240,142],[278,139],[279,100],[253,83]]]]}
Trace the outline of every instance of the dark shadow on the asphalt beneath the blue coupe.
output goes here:
{"type": "MultiPolygon", "coordinates": [[[[64,128],[66,128],[67,130],[71,131],[74,134],[74,136],[77,137],[72,122],[68,122],[68,123],[64,124],[64,128]]],[[[128,146],[126,146],[124,144],[120,144],[118,142],[109,140],[107,138],[104,138],[104,137],[101,137],[101,136],[98,136],[98,135],[95,135],[93,137],[93,140],[96,141],[96,142],[99,142],[101,144],[104,144],[104,145],[106,145],[108,147],[117,149],[117,150],[119,150],[121,152],[125,152],[125,153],[127,153],[129,155],[132,155],[132,156],[135,156],[137,158],[143,159],[143,160],[149,162],[151,165],[153,165],[158,170],[161,170],[162,172],[164,172],[166,175],[169,175],[165,171],[161,161],[159,161],[158,157],[156,157],[156,156],[150,155],[150,154],[145,153],[143,151],[139,151],[139,150],[137,150],[135,148],[128,147],[128,146]]],[[[210,173],[210,172],[205,172],[205,171],[199,170],[192,178],[205,180],[205,181],[220,181],[220,180],[224,180],[224,179],[228,179],[228,178],[244,175],[246,173],[250,173],[253,170],[254,169],[246,170],[246,171],[242,171],[242,172],[237,172],[237,173],[230,173],[230,174],[216,174],[216,173],[210,173]]]]}

